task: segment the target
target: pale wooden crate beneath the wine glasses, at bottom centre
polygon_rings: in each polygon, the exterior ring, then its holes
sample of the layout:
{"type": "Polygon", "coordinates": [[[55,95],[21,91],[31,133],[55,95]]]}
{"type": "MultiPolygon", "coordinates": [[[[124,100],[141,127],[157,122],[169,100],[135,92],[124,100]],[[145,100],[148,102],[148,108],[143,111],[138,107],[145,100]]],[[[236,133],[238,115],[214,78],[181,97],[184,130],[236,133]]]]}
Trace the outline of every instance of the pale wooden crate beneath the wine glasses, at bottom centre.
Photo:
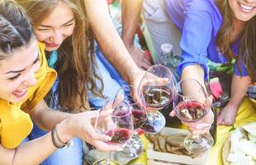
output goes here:
{"type": "MultiPolygon", "coordinates": [[[[188,134],[187,130],[179,130],[165,127],[160,132],[162,135],[171,134],[188,134]]],[[[148,165],[178,165],[178,164],[195,164],[204,165],[206,164],[207,153],[202,154],[197,158],[191,158],[187,155],[177,155],[173,153],[157,152],[153,149],[154,145],[149,143],[147,149],[148,165]]]]}

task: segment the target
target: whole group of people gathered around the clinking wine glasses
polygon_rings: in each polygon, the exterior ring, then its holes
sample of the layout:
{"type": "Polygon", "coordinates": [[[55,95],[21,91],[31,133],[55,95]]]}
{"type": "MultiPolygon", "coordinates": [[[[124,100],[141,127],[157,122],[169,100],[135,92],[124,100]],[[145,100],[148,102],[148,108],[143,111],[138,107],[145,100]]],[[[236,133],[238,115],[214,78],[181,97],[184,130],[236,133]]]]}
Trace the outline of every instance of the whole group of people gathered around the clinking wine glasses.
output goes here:
{"type": "MultiPolygon", "coordinates": [[[[133,45],[142,6],[156,52],[168,42],[181,55],[181,79],[203,84],[207,59],[236,59],[230,101],[218,119],[232,125],[256,78],[256,0],[123,0],[121,36],[107,1],[0,0],[0,164],[82,164],[82,140],[121,150],[93,130],[98,113],[89,110],[121,79],[138,87],[149,67],[133,45]],[[118,71],[115,78],[101,73],[106,65],[97,51],[118,71]]],[[[185,124],[200,132],[212,121],[210,111],[200,123],[185,124]]]]}

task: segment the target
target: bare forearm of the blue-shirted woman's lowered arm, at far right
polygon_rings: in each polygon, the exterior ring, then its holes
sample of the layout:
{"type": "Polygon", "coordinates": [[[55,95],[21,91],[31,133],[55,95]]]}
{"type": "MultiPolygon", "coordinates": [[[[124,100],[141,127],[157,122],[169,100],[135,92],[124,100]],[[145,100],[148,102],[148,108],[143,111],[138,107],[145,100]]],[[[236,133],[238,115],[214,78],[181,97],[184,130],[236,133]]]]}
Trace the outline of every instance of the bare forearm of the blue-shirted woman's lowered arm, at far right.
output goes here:
{"type": "Polygon", "coordinates": [[[241,101],[244,99],[245,93],[251,83],[251,78],[249,76],[239,77],[233,75],[231,83],[231,93],[229,103],[234,106],[239,106],[241,101]]]}

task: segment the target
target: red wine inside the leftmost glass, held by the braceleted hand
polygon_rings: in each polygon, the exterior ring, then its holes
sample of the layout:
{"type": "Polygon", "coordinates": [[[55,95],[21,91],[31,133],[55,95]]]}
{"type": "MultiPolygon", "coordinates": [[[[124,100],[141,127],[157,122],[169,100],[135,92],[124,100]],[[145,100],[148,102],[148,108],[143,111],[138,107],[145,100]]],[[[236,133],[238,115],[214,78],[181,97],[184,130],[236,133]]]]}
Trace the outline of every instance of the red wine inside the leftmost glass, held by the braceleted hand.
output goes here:
{"type": "Polygon", "coordinates": [[[125,128],[116,128],[115,130],[107,131],[106,135],[111,137],[111,140],[107,141],[108,144],[125,144],[130,139],[130,130],[125,128]]]}

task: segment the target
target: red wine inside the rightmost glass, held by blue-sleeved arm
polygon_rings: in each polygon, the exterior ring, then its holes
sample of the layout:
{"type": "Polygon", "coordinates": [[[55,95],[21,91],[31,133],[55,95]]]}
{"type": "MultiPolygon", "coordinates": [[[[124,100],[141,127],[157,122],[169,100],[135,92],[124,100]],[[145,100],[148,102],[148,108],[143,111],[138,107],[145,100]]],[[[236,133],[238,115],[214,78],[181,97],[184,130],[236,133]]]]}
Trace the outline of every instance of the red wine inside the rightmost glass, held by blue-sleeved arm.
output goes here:
{"type": "Polygon", "coordinates": [[[184,121],[200,120],[206,115],[206,108],[198,101],[183,101],[176,107],[177,115],[184,121]]]}

